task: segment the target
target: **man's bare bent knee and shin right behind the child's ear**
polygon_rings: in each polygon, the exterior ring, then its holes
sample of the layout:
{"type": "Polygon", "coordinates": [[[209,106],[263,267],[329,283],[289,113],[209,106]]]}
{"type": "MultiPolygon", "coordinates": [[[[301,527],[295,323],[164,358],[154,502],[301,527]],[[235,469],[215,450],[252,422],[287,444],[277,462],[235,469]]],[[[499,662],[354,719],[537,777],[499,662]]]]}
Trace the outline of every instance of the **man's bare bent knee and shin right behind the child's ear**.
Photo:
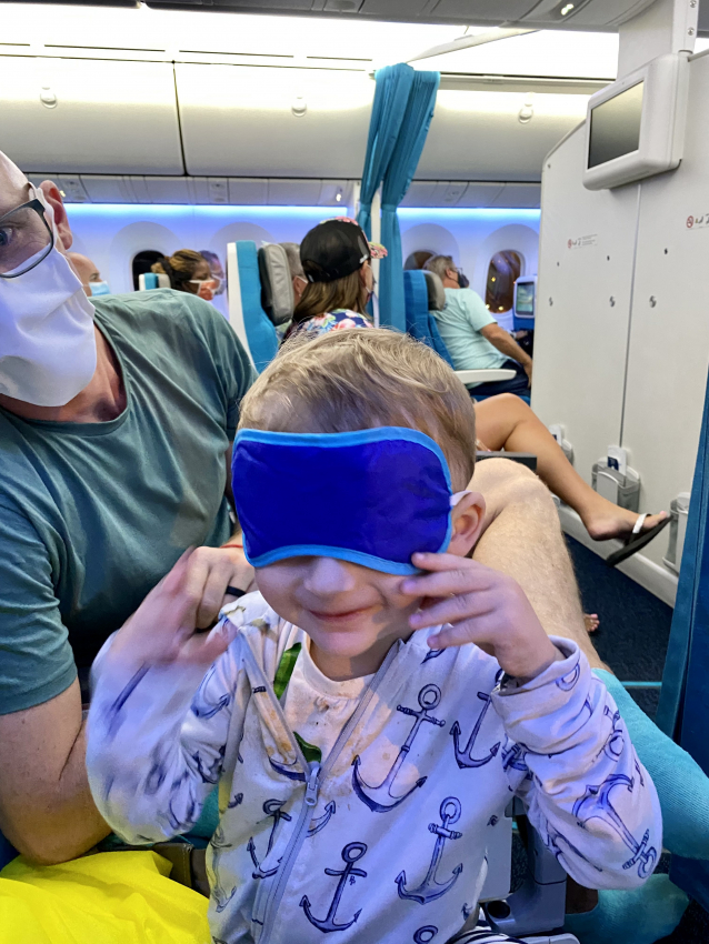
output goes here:
{"type": "Polygon", "coordinates": [[[589,640],[559,515],[539,479],[508,459],[486,459],[470,484],[487,504],[473,558],[520,584],[550,635],[578,643],[592,669],[608,669],[589,640]]]}

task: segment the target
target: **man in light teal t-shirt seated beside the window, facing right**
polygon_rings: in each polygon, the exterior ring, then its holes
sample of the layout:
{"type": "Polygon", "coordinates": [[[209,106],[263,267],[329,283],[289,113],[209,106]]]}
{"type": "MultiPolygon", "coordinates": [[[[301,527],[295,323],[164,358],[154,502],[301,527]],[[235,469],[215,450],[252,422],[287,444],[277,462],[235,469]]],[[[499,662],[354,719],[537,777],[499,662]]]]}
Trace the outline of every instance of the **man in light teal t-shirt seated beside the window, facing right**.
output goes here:
{"type": "Polygon", "coordinates": [[[477,292],[461,284],[461,274],[450,255],[435,255],[425,265],[446,289],[446,308],[436,311],[438,330],[456,370],[511,369],[512,380],[470,383],[473,395],[529,393],[532,361],[512,335],[497,323],[477,292]]]}

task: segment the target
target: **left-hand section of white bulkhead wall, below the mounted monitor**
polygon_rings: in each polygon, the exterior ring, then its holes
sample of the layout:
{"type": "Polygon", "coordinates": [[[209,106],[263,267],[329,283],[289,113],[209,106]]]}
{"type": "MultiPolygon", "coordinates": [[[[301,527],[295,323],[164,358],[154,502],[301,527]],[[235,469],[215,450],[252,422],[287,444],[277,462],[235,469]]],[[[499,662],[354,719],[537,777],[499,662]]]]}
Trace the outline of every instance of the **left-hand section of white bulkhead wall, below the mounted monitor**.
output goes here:
{"type": "Polygon", "coordinates": [[[531,405],[590,484],[620,441],[639,184],[586,190],[583,149],[579,128],[545,164],[531,405]]]}

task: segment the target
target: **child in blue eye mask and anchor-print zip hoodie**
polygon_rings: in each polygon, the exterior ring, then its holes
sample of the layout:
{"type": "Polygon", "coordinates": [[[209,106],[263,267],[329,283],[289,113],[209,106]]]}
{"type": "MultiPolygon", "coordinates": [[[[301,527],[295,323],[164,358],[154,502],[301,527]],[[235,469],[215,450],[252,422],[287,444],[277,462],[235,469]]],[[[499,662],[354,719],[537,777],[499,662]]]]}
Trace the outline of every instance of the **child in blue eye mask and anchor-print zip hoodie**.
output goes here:
{"type": "Polygon", "coordinates": [[[466,558],[475,440],[467,392],[407,335],[283,352],[234,445],[260,593],[196,632],[186,554],[99,654],[87,764],[111,826],[184,832],[219,783],[214,940],[509,940],[467,931],[512,795],[585,886],[652,871],[657,795],[612,697],[511,578],[466,558]]]}

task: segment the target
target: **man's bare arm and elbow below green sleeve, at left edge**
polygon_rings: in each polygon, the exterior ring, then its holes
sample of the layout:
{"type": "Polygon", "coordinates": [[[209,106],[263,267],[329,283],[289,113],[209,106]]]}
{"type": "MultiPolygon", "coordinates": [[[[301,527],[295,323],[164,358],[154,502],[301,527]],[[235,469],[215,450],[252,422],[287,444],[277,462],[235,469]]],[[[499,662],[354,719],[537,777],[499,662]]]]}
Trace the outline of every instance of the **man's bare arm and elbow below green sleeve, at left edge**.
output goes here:
{"type": "Polygon", "coordinates": [[[89,791],[77,681],[0,715],[0,832],[33,862],[66,862],[109,834],[89,791]]]}

